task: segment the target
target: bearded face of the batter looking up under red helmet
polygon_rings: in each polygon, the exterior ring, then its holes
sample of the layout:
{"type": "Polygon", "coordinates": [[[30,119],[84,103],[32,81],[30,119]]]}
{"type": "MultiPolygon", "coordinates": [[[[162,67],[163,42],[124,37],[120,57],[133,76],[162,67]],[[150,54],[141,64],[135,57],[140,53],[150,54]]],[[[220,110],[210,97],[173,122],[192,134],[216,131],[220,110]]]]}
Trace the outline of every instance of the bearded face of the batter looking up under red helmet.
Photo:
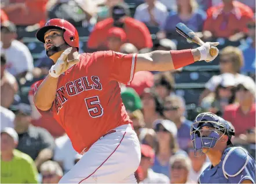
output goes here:
{"type": "Polygon", "coordinates": [[[65,43],[65,40],[63,39],[63,30],[60,29],[49,29],[45,33],[45,50],[46,55],[48,57],[51,57],[53,54],[64,51],[68,47],[68,44],[65,43]]]}

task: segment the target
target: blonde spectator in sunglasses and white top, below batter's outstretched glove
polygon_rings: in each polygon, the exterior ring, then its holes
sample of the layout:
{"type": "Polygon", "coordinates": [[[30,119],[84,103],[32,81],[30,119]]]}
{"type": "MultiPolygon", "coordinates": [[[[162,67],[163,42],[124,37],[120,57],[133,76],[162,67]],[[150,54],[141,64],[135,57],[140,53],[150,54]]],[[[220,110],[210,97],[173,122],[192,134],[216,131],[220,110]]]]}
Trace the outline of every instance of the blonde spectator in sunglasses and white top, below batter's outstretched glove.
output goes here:
{"type": "MultiPolygon", "coordinates": [[[[240,74],[243,63],[243,53],[237,47],[228,46],[223,48],[223,50],[220,52],[220,72],[221,74],[234,74],[236,78],[236,84],[247,78],[247,76],[240,74]]],[[[199,97],[199,104],[202,103],[202,99],[204,97],[215,91],[220,82],[221,75],[213,76],[208,82],[206,82],[206,89],[204,89],[199,97]]]]}

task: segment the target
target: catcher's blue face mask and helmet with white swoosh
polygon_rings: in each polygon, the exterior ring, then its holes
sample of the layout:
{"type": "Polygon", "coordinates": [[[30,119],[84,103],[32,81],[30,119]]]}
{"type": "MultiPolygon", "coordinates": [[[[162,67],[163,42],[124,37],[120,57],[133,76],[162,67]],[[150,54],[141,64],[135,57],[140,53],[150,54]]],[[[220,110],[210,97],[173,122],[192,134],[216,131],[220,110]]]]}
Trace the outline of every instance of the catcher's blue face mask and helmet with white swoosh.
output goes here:
{"type": "Polygon", "coordinates": [[[209,152],[210,148],[214,148],[215,144],[222,136],[228,136],[228,146],[233,146],[231,137],[235,135],[233,129],[223,118],[218,117],[210,112],[199,114],[191,125],[190,135],[195,149],[195,156],[203,155],[209,152]],[[202,127],[207,126],[207,129],[202,127]],[[203,152],[203,148],[204,152],[203,152]],[[205,151],[206,150],[206,151],[205,151]]]}

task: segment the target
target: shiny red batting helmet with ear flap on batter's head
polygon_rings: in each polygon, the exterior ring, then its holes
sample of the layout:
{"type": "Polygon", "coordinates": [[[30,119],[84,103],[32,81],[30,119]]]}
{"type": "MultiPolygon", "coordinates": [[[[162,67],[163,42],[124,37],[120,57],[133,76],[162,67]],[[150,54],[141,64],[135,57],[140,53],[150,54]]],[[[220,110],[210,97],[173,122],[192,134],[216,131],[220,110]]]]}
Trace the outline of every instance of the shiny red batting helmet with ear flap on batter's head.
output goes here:
{"type": "Polygon", "coordinates": [[[47,21],[45,26],[36,32],[36,38],[40,42],[45,43],[45,38],[44,38],[45,33],[49,29],[54,29],[54,28],[55,29],[56,28],[63,29],[63,31],[64,31],[63,38],[64,38],[65,42],[71,47],[79,48],[78,31],[76,30],[74,25],[72,25],[70,22],[68,22],[64,19],[60,19],[60,18],[53,18],[53,19],[47,21]]]}

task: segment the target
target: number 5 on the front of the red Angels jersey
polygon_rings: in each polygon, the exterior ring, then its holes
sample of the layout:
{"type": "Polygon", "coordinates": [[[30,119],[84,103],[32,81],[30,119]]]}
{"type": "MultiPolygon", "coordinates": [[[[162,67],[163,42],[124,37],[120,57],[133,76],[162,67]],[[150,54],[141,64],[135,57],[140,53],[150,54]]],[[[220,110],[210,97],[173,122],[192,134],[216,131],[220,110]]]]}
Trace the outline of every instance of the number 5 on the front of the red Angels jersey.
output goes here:
{"type": "Polygon", "coordinates": [[[88,97],[85,99],[87,110],[92,118],[98,118],[103,115],[103,107],[100,104],[98,96],[88,97]]]}

